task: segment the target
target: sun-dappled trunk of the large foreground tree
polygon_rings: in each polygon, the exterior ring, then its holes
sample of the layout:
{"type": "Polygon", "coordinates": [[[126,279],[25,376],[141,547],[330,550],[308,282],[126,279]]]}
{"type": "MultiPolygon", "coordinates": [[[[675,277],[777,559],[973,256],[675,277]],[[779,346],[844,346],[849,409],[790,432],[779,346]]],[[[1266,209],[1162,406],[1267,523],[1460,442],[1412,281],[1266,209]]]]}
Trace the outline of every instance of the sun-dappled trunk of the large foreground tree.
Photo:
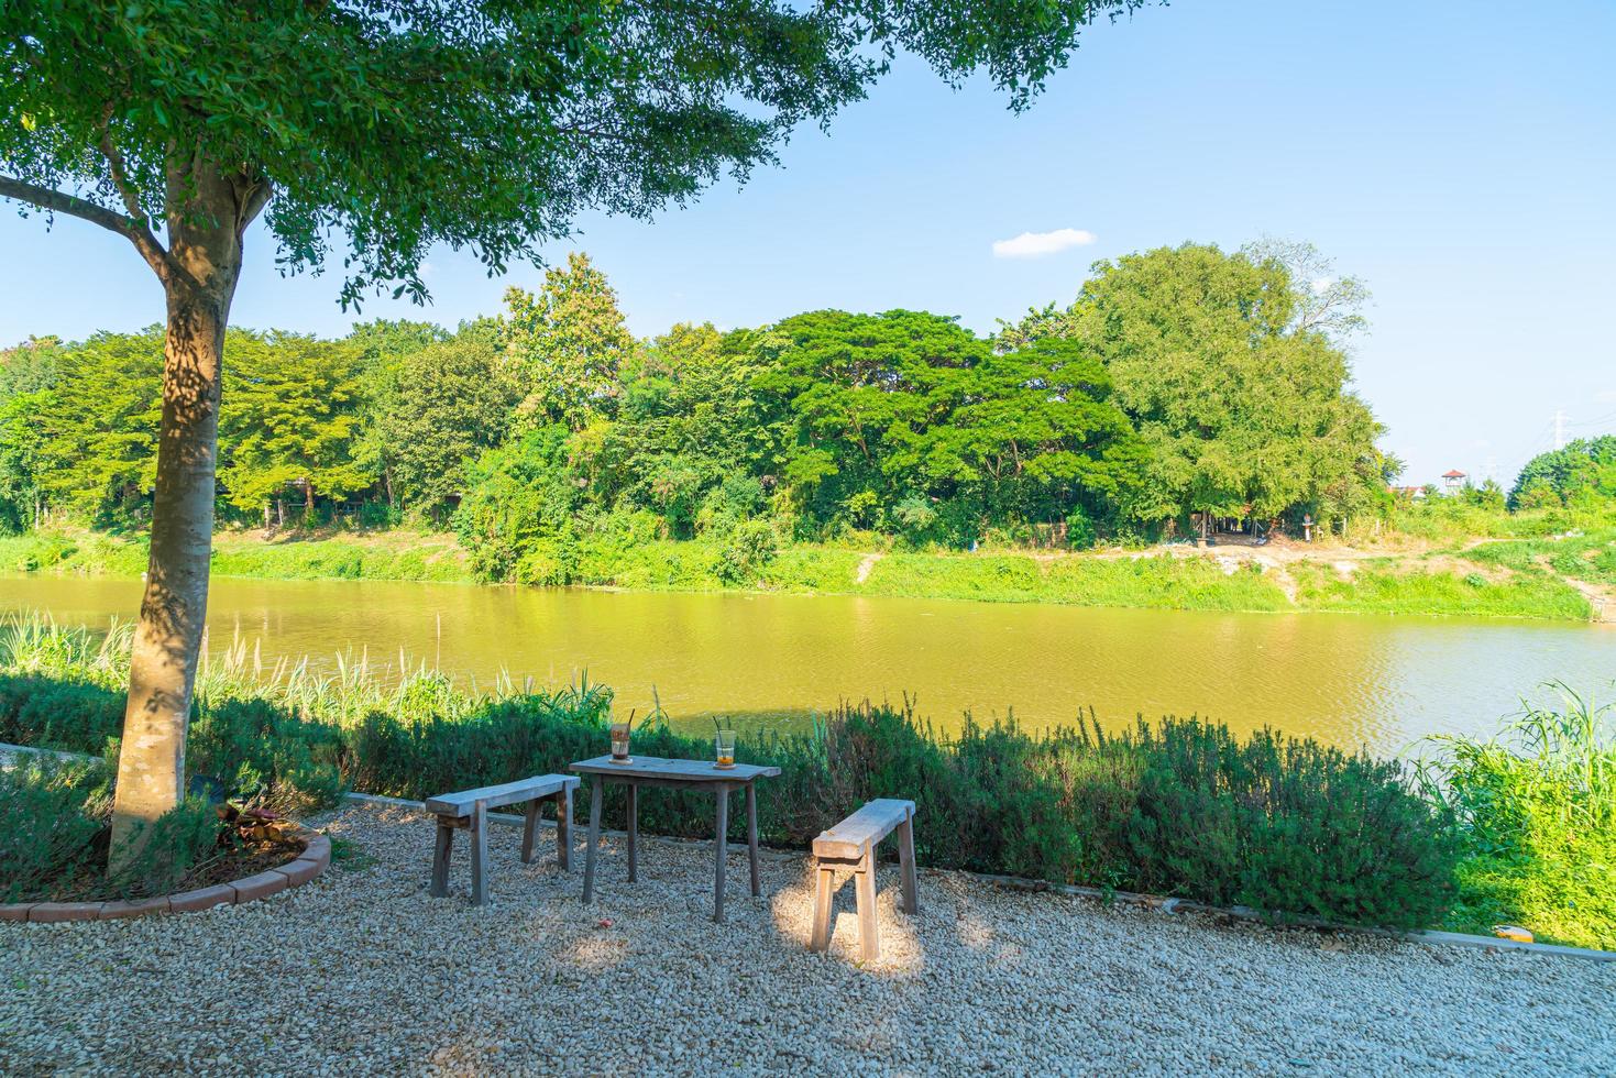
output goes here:
{"type": "Polygon", "coordinates": [[[129,656],[110,868],[126,868],[144,827],[184,797],[186,726],[207,621],[213,472],[225,326],[241,276],[241,236],[262,181],[199,155],[168,166],[168,333],[152,499],[152,553],[129,656]]]}

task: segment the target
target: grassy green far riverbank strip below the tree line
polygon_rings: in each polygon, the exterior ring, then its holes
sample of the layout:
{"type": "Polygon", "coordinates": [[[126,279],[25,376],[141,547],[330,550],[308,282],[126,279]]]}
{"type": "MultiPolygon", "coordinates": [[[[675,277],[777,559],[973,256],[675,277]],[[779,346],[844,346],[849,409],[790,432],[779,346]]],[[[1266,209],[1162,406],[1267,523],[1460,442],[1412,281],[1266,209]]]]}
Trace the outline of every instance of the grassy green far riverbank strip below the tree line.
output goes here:
{"type": "MultiPolygon", "coordinates": [[[[882,553],[795,545],[739,574],[719,545],[580,540],[566,579],[645,592],[761,590],[1228,613],[1328,611],[1598,621],[1616,617],[1616,530],[1577,551],[1538,540],[1464,551],[1189,546],[1149,551],[882,553]],[[1584,571],[1584,567],[1587,567],[1584,571]],[[1582,571],[1582,575],[1572,575],[1582,571]]],[[[145,548],[95,532],[0,538],[0,567],[137,577],[145,548]]],[[[213,572],[273,580],[475,582],[454,537],[422,532],[215,537],[213,572]]],[[[535,580],[519,580],[535,582],[535,580]]]]}

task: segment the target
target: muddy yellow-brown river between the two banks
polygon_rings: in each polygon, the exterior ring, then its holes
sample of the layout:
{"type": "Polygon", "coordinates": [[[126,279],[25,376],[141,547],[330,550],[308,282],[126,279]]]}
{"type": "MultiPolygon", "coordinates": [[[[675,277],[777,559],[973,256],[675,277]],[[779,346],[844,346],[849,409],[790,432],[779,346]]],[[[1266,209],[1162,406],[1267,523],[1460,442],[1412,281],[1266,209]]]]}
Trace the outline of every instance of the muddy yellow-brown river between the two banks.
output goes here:
{"type": "MultiPolygon", "coordinates": [[[[0,579],[0,609],[63,624],[105,627],[137,603],[131,580],[0,579]]],[[[965,711],[1047,727],[1094,708],[1105,724],[1199,714],[1385,755],[1490,732],[1548,679],[1606,698],[1616,679],[1616,627],[1526,621],[217,579],[208,625],[213,646],[241,635],[268,661],[368,650],[396,671],[402,648],[462,684],[587,672],[624,711],[645,713],[654,685],[680,726],[785,727],[908,693],[944,731],[965,711]]]]}

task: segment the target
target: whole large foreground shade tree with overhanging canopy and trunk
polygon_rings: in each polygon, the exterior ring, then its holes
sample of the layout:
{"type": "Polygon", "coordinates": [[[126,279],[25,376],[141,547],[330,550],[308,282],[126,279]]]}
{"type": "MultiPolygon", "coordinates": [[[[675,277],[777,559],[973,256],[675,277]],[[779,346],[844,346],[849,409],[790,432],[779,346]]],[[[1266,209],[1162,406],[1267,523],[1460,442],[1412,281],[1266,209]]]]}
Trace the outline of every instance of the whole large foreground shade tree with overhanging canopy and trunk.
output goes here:
{"type": "Polygon", "coordinates": [[[1021,107],[1141,0],[231,0],[0,6],[0,197],[128,239],[163,288],[162,436],[113,857],[184,789],[207,611],[225,326],[247,226],[288,270],[346,238],[344,301],[425,296],[433,244],[490,268],[585,208],[646,215],[772,163],[898,48],[1021,107]]]}

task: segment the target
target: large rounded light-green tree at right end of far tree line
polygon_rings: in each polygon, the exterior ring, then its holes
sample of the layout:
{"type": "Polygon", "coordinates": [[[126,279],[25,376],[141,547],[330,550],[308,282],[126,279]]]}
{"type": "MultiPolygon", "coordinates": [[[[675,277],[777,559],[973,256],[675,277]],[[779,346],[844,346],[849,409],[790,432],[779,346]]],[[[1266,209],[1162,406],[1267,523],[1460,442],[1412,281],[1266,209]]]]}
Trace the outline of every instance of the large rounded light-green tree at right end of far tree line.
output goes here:
{"type": "MultiPolygon", "coordinates": [[[[1149,449],[1143,514],[1278,516],[1378,504],[1367,406],[1330,335],[1357,328],[1361,286],[1320,299],[1291,275],[1309,249],[1225,254],[1185,244],[1099,262],[1076,302],[1000,333],[1070,338],[1100,357],[1149,449]]],[[[1328,291],[1328,289],[1327,289],[1328,291]]]]}

